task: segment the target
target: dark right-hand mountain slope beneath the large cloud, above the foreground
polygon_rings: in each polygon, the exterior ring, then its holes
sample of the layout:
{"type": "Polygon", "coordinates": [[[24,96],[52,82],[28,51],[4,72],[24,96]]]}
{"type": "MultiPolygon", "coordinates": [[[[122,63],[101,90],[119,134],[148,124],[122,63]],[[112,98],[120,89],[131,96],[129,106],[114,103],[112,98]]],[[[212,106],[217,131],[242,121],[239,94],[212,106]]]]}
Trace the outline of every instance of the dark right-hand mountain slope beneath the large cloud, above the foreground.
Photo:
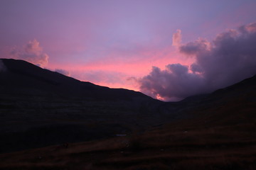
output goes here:
{"type": "Polygon", "coordinates": [[[256,76],[211,94],[186,98],[179,104],[182,103],[186,105],[184,114],[193,115],[193,125],[238,125],[256,122],[256,76]]]}

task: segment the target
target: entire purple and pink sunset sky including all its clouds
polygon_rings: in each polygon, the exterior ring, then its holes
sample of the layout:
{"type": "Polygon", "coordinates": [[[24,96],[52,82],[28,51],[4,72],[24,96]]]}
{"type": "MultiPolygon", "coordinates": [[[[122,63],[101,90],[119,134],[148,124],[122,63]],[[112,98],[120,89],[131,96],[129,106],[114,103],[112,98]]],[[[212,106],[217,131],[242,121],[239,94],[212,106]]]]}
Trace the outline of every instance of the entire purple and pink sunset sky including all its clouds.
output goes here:
{"type": "Polygon", "coordinates": [[[255,8],[255,0],[0,0],[0,57],[178,101],[256,74],[255,8]]]}

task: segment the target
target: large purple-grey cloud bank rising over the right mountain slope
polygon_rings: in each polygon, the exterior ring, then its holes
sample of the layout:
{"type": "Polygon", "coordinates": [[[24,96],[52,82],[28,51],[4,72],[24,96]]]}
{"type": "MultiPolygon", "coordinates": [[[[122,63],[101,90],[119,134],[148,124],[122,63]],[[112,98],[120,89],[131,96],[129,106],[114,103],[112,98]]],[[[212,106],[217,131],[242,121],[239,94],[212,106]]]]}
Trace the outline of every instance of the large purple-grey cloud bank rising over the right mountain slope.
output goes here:
{"type": "MultiPolygon", "coordinates": [[[[173,45],[181,41],[180,33],[173,36],[173,45]]],[[[211,42],[199,38],[178,45],[178,49],[195,62],[189,66],[168,64],[164,70],[153,67],[148,75],[139,79],[144,94],[178,101],[252,77],[256,74],[256,23],[227,30],[211,42]]]]}

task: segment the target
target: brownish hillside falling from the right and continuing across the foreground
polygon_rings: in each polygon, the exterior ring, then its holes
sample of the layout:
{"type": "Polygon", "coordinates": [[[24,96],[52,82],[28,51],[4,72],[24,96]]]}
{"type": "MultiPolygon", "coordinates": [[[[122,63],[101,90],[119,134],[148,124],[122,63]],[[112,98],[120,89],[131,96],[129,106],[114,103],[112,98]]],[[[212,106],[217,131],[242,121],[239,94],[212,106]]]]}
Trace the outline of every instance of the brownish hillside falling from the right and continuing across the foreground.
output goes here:
{"type": "Polygon", "coordinates": [[[0,169],[256,169],[256,77],[157,111],[170,119],[143,134],[0,154],[0,169]]]}

